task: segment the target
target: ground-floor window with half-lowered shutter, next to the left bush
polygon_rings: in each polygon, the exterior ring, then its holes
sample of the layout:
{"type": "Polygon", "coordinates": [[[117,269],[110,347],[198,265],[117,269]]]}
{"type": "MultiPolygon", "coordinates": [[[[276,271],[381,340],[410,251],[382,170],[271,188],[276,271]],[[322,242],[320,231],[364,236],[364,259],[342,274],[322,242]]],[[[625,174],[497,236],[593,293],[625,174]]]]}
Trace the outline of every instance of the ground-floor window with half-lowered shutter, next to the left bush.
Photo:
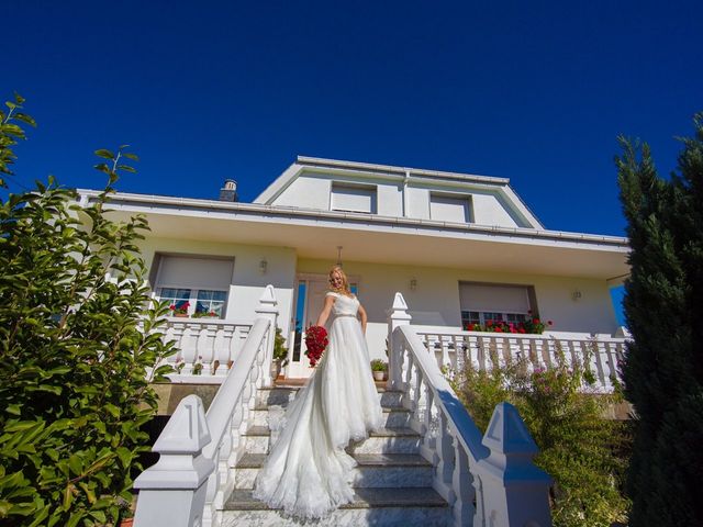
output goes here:
{"type": "Polygon", "coordinates": [[[224,318],[233,260],[161,256],[156,295],[175,316],[224,318]]]}

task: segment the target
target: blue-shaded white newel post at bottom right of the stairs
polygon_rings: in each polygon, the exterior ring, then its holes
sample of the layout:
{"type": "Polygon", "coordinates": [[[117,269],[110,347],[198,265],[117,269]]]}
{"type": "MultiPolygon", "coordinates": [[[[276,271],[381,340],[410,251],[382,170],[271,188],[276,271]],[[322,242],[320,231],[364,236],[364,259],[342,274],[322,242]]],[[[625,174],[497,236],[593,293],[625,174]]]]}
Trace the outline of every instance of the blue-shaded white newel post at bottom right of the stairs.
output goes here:
{"type": "Polygon", "coordinates": [[[551,478],[535,467],[539,451],[515,406],[500,403],[483,436],[491,451],[476,467],[477,498],[492,525],[551,527],[551,478]]]}

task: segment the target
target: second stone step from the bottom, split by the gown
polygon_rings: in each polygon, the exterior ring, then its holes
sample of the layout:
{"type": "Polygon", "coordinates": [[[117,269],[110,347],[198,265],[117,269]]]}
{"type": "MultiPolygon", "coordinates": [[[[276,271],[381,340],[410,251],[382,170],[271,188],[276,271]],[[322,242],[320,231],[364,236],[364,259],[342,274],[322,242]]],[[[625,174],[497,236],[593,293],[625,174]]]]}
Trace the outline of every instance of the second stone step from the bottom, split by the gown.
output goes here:
{"type": "MultiPolygon", "coordinates": [[[[419,487],[432,485],[433,467],[413,453],[356,453],[355,487],[419,487]]],[[[245,453],[236,464],[236,489],[253,489],[265,453],[245,453]]]]}

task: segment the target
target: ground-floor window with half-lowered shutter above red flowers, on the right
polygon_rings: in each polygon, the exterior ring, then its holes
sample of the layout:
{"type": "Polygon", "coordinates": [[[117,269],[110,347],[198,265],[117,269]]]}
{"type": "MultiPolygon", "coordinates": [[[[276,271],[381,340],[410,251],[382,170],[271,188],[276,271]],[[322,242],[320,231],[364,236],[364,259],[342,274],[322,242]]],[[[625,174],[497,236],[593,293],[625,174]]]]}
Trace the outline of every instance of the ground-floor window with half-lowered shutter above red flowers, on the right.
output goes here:
{"type": "Polygon", "coordinates": [[[486,325],[489,321],[520,323],[531,311],[533,288],[486,283],[459,283],[461,326],[486,325]]]}

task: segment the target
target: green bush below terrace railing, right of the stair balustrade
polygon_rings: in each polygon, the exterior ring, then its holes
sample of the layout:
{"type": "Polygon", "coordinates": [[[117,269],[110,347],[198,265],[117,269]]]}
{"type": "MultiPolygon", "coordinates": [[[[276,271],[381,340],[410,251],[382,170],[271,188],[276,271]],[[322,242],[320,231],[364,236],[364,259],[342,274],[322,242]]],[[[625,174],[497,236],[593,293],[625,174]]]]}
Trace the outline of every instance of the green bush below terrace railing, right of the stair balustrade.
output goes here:
{"type": "Polygon", "coordinates": [[[568,363],[560,350],[557,362],[535,371],[525,361],[488,372],[469,366],[453,382],[482,430],[498,403],[518,408],[540,450],[535,464],[555,480],[556,527],[610,527],[625,519],[628,506],[621,492],[626,425],[603,417],[614,396],[584,393],[591,378],[587,368],[568,363]]]}

